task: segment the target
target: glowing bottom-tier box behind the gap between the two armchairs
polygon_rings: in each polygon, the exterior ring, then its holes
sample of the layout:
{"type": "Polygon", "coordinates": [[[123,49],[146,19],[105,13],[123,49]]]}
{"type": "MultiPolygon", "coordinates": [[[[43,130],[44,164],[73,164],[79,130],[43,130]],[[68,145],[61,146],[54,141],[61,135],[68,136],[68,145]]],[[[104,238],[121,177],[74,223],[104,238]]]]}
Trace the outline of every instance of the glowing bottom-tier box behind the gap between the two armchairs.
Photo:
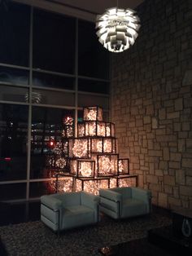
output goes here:
{"type": "Polygon", "coordinates": [[[76,178],[75,191],[85,191],[98,195],[100,188],[109,188],[109,178],[76,178]]]}

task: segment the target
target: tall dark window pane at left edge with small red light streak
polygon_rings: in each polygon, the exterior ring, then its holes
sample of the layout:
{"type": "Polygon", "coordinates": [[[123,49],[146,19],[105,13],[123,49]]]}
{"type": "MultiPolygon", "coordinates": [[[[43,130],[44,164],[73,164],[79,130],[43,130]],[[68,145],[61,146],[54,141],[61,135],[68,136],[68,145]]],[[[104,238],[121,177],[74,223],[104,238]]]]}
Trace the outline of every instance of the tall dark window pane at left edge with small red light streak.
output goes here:
{"type": "Polygon", "coordinates": [[[28,107],[0,104],[0,180],[26,179],[28,107]]]}

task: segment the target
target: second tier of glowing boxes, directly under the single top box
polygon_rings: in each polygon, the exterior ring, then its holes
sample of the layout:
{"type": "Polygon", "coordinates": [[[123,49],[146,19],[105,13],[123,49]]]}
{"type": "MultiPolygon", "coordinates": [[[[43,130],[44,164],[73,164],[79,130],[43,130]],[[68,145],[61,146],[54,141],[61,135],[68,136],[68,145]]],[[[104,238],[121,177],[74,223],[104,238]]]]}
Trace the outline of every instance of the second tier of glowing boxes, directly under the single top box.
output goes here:
{"type": "Polygon", "coordinates": [[[106,121],[83,121],[77,125],[78,137],[115,137],[115,125],[106,121]]]}

